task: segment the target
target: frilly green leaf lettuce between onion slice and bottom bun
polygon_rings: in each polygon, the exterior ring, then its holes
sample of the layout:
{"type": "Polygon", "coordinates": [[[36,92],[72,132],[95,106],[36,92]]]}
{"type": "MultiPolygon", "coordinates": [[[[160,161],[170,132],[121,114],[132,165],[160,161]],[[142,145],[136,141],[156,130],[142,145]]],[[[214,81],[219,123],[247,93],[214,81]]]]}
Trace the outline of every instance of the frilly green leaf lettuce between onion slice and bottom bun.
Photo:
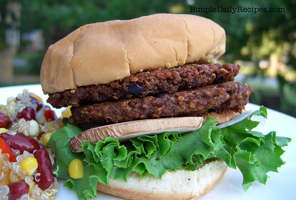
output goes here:
{"type": "Polygon", "coordinates": [[[284,164],[280,158],[290,141],[277,137],[274,131],[264,135],[252,129],[258,121],[252,115],[267,117],[265,107],[250,116],[227,127],[218,128],[213,117],[191,132],[164,132],[156,135],[141,135],[120,142],[108,137],[95,144],[84,141],[81,153],[73,153],[69,140],[81,130],[70,124],[55,132],[48,146],[57,155],[55,170],[57,176],[66,178],[64,186],[75,189],[79,199],[96,197],[96,183],[108,184],[109,177],[126,181],[129,172],[135,171],[140,177],[147,173],[161,178],[166,171],[186,167],[195,170],[198,164],[209,158],[223,159],[231,168],[238,168],[243,174],[243,189],[252,182],[265,184],[267,172],[275,171],[284,164]],[[84,177],[73,179],[69,176],[68,165],[74,158],[83,160],[84,177]]]}

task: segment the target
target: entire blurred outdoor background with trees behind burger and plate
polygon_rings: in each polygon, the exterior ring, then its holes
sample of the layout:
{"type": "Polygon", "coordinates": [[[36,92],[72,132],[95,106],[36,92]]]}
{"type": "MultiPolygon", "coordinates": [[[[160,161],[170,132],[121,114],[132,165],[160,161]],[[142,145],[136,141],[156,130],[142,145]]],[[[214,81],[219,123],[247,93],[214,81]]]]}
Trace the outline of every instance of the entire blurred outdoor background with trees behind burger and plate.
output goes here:
{"type": "Polygon", "coordinates": [[[191,13],[224,27],[226,53],[219,62],[241,65],[236,80],[253,85],[251,102],[296,116],[295,10],[296,0],[0,0],[0,86],[40,83],[48,46],[81,25],[191,13]],[[192,6],[251,12],[191,12],[192,6]]]}

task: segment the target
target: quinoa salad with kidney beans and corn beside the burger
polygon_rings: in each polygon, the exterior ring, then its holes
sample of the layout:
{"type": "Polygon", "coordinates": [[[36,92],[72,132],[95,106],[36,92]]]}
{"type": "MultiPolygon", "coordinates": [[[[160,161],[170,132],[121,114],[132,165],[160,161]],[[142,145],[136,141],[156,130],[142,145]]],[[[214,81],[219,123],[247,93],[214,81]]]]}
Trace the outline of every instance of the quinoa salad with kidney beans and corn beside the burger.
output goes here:
{"type": "Polygon", "coordinates": [[[0,105],[0,199],[55,198],[55,155],[45,144],[62,126],[62,118],[26,89],[0,105]]]}

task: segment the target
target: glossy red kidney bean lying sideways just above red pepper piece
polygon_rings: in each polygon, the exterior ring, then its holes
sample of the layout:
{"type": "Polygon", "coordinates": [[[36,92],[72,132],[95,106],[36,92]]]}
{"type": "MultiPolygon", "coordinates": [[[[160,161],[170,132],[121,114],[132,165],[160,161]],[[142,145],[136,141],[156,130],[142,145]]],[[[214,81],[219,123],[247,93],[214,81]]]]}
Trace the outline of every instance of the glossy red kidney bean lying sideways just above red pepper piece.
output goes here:
{"type": "Polygon", "coordinates": [[[11,135],[4,132],[0,134],[0,137],[3,138],[11,148],[18,149],[21,153],[23,153],[24,150],[33,153],[34,150],[40,148],[40,144],[36,139],[22,133],[11,135]]]}

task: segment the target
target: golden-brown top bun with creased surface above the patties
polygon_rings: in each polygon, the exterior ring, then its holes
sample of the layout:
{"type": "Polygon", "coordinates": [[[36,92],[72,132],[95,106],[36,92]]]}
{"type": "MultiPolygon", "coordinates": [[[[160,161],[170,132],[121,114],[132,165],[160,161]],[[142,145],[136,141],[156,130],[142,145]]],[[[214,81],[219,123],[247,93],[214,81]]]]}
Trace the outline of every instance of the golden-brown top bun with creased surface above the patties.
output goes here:
{"type": "Polygon", "coordinates": [[[92,23],[48,48],[41,85],[44,93],[55,93],[143,70],[212,63],[224,52],[224,29],[196,15],[160,13],[92,23]]]}

